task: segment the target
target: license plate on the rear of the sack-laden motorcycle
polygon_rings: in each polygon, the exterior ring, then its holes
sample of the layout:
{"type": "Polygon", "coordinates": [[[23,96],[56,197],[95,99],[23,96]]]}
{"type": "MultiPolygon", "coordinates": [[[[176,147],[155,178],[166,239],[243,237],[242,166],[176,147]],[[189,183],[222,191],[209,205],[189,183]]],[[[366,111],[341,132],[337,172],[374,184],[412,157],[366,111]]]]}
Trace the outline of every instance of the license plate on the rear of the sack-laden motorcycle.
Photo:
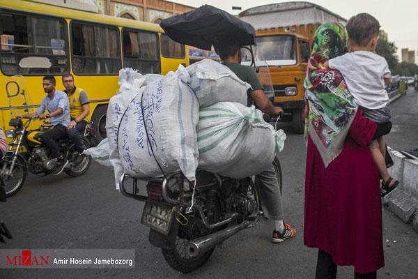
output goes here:
{"type": "Polygon", "coordinates": [[[169,234],[171,222],[173,221],[173,211],[165,204],[154,202],[145,202],[142,213],[141,223],[161,232],[164,235],[169,234]]]}

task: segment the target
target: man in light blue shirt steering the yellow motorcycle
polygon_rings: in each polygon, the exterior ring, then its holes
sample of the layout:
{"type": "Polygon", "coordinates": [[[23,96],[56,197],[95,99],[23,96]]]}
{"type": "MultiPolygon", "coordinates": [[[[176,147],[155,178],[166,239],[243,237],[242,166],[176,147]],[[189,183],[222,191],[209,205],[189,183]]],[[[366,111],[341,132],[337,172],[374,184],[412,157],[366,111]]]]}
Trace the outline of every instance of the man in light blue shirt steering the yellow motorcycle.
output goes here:
{"type": "Polygon", "coordinates": [[[67,138],[67,126],[70,123],[70,104],[68,103],[67,94],[55,89],[55,77],[46,75],[42,79],[42,84],[47,96],[42,99],[38,110],[33,114],[29,114],[29,116],[49,119],[48,122],[54,125],[53,129],[42,133],[40,140],[51,151],[51,156],[57,158],[56,166],[52,170],[52,173],[56,175],[61,174],[64,167],[68,164],[68,160],[61,154],[56,142],[67,138]]]}

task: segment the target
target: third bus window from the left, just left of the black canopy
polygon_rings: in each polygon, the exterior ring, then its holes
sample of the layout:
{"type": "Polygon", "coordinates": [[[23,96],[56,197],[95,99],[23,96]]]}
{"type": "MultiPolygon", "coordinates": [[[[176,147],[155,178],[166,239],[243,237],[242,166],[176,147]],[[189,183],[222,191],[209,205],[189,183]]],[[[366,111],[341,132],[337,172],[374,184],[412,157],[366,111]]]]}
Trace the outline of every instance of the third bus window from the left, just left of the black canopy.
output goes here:
{"type": "Polygon", "coordinates": [[[160,73],[158,34],[123,29],[123,67],[142,74],[160,73]]]}

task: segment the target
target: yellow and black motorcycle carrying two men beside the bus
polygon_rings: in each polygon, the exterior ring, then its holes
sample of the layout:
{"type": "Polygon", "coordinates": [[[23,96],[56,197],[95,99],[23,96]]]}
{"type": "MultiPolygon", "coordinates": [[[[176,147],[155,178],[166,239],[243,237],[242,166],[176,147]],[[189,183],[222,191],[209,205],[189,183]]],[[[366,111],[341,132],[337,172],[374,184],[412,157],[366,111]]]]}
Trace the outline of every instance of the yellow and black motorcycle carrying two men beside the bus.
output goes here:
{"type": "MultiPolygon", "coordinates": [[[[5,130],[6,137],[12,139],[6,155],[1,160],[0,176],[4,180],[7,197],[16,195],[24,185],[28,172],[33,174],[51,174],[56,165],[56,158],[51,158],[50,151],[40,141],[42,131],[29,130],[31,121],[38,117],[30,117],[25,123],[20,118],[11,119],[9,126],[15,129],[5,130]]],[[[87,124],[82,135],[86,148],[91,146],[93,135],[90,132],[91,122],[87,124]]],[[[81,176],[87,172],[91,164],[91,156],[84,156],[82,163],[75,164],[78,153],[75,144],[70,140],[60,140],[59,150],[68,159],[64,172],[70,176],[81,176]]]]}

